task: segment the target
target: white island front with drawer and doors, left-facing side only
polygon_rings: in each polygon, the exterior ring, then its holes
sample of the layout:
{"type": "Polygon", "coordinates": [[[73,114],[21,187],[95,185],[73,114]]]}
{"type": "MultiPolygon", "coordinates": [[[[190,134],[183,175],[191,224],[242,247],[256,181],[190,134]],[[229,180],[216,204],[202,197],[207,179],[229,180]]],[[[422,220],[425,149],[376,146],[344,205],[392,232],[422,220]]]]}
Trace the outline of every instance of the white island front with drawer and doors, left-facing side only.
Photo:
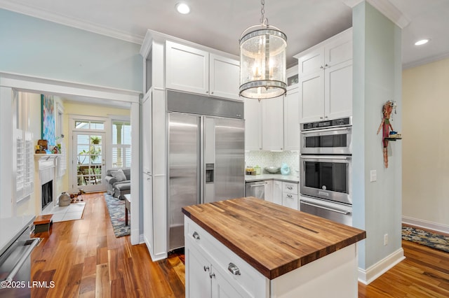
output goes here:
{"type": "Polygon", "coordinates": [[[269,280],[185,217],[187,298],[269,297],[269,280]]]}

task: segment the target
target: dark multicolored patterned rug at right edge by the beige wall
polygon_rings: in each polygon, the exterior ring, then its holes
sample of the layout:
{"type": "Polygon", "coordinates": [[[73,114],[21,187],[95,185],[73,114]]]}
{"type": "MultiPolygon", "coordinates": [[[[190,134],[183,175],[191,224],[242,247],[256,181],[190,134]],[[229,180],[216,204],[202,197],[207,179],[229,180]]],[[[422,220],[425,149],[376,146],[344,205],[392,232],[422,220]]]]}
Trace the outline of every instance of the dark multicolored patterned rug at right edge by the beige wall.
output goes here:
{"type": "Polygon", "coordinates": [[[414,227],[402,227],[402,239],[420,243],[449,253],[449,236],[443,236],[414,227]]]}

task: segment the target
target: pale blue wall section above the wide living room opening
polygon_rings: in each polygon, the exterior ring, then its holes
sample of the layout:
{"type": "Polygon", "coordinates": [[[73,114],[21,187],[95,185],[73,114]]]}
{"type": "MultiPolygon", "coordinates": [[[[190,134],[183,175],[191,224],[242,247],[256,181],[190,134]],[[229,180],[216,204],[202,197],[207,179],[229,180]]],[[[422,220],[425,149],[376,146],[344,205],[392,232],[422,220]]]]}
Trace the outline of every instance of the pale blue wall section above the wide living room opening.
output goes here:
{"type": "Polygon", "coordinates": [[[0,72],[141,92],[140,45],[0,9],[0,72]]]}

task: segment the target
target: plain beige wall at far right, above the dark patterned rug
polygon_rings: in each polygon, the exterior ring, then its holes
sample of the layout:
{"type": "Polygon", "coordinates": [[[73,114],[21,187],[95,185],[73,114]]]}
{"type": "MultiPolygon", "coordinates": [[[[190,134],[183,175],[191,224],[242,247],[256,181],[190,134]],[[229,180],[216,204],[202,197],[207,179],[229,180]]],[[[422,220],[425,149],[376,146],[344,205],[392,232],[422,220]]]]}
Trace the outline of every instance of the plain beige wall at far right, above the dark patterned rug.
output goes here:
{"type": "Polygon", "coordinates": [[[403,71],[403,220],[449,233],[449,59],[403,71]]]}

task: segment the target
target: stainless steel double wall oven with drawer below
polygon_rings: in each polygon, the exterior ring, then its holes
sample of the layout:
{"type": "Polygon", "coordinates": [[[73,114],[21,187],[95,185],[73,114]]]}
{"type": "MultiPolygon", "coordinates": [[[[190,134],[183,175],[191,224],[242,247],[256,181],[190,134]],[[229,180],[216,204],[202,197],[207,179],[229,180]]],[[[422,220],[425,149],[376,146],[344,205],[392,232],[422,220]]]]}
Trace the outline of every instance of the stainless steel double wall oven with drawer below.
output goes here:
{"type": "Polygon", "coordinates": [[[300,210],[352,225],[351,118],[303,123],[300,210]]]}

